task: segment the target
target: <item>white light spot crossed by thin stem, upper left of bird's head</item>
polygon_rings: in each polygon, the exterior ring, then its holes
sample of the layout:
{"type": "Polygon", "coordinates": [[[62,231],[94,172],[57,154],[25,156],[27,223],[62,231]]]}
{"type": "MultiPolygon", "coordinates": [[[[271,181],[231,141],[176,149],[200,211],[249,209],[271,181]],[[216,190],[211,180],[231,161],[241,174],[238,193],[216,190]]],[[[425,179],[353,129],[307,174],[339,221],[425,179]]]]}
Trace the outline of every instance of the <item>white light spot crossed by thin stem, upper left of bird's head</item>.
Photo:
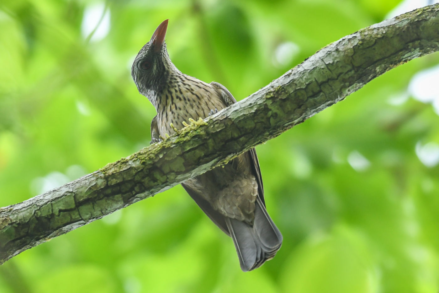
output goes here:
{"type": "Polygon", "coordinates": [[[102,40],[110,31],[110,11],[105,9],[103,2],[90,4],[84,11],[84,18],[81,24],[83,38],[87,38],[94,29],[96,30],[90,38],[90,41],[93,42],[102,40]]]}

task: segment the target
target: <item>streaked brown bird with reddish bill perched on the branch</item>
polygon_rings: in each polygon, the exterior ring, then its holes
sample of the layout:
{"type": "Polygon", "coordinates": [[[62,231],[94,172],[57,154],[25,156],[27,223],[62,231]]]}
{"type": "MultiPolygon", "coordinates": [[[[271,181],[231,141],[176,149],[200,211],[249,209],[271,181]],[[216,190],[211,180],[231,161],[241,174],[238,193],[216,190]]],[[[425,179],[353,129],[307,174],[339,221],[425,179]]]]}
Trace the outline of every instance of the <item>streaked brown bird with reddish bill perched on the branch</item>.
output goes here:
{"type": "MultiPolygon", "coordinates": [[[[180,72],[171,62],[163,21],[137,54],[131,75],[141,95],[155,106],[151,143],[173,135],[187,125],[236,103],[222,84],[205,83],[180,72]]],[[[268,215],[258,157],[253,148],[226,165],[213,168],[181,184],[210,220],[234,242],[242,271],[272,259],[282,234],[268,215]]]]}

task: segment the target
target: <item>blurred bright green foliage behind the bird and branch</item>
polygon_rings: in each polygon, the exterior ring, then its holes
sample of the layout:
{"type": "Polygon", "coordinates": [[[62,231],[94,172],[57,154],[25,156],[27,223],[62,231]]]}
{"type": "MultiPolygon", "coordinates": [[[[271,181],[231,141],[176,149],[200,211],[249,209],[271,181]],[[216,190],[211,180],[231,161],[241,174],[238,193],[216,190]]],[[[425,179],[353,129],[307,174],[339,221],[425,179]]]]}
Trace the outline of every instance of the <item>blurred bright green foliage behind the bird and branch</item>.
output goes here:
{"type": "MultiPolygon", "coordinates": [[[[155,110],[130,66],[162,20],[176,66],[240,100],[398,3],[1,1],[0,206],[148,145],[155,110]],[[101,39],[83,27],[90,7],[108,13],[101,39]]],[[[438,63],[399,66],[257,147],[284,234],[260,269],[240,271],[231,239],[179,186],[15,256],[0,292],[437,292],[439,169],[415,146],[439,142],[439,117],[389,101],[438,63]]]]}

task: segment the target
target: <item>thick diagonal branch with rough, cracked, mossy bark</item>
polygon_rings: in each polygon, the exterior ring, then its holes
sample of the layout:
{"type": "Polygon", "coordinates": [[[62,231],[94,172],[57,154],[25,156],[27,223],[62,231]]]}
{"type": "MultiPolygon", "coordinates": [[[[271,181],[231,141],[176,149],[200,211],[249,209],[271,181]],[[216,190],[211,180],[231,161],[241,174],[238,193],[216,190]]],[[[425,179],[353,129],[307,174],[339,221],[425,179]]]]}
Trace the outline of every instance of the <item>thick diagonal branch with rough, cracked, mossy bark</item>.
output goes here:
{"type": "Polygon", "coordinates": [[[115,163],[0,209],[0,264],[226,163],[386,71],[439,51],[439,4],[346,36],[248,98],[115,163]]]}

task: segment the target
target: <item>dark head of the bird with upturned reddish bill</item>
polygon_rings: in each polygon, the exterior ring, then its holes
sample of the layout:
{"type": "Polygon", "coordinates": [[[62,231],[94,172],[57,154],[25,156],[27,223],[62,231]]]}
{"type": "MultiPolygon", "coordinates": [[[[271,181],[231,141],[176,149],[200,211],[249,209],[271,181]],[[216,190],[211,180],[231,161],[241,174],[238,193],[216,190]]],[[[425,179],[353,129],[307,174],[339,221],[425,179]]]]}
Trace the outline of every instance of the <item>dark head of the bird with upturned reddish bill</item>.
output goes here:
{"type": "Polygon", "coordinates": [[[168,19],[157,27],[151,40],[140,49],[131,67],[131,75],[137,89],[150,100],[155,99],[162,91],[170,71],[175,68],[166,50],[167,27],[168,19]]]}

